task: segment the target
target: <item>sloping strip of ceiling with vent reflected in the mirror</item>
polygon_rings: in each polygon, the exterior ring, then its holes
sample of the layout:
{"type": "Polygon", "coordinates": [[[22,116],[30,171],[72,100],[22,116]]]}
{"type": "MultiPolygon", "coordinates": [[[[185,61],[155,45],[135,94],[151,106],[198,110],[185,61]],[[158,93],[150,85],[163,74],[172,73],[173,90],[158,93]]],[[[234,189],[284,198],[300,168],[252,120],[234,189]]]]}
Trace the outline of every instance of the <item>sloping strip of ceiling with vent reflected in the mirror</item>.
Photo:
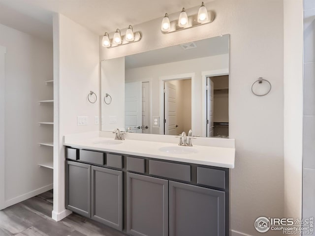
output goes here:
{"type": "MultiPolygon", "coordinates": [[[[228,35],[198,40],[193,43],[196,47],[187,50],[184,50],[181,45],[177,45],[126,56],[126,69],[229,53],[228,35]]],[[[189,46],[190,44],[186,43],[183,46],[189,46]]]]}

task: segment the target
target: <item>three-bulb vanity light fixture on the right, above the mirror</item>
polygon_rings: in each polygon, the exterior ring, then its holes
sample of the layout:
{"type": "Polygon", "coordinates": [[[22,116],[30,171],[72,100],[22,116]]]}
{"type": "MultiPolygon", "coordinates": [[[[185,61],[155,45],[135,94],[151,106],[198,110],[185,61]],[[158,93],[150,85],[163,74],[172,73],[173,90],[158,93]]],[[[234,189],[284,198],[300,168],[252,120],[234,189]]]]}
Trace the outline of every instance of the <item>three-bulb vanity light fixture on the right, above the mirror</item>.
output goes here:
{"type": "Polygon", "coordinates": [[[183,29],[189,29],[196,26],[205,25],[213,22],[214,14],[208,11],[204,2],[198,9],[198,14],[188,16],[185,8],[181,11],[178,20],[170,22],[167,13],[162,19],[161,31],[163,33],[176,32],[183,29]]]}

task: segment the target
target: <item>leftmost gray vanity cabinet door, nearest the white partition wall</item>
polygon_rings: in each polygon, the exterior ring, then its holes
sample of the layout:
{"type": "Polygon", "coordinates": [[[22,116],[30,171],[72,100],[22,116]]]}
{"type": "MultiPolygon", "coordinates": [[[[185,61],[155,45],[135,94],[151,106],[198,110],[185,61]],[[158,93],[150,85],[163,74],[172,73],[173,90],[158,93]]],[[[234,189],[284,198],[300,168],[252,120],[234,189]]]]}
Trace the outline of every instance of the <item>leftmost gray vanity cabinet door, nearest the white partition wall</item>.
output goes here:
{"type": "Polygon", "coordinates": [[[66,161],[66,208],[91,217],[91,166],[66,161]]]}

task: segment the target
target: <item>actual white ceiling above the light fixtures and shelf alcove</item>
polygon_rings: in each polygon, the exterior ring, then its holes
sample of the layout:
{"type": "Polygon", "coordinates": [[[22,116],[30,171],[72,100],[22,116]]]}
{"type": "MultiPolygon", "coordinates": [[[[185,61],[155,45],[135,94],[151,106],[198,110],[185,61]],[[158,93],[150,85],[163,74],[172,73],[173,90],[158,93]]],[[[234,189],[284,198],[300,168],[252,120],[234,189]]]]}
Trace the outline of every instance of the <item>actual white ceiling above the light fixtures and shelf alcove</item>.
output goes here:
{"type": "Polygon", "coordinates": [[[52,40],[52,15],[58,12],[102,35],[104,31],[124,29],[200,3],[201,0],[0,0],[0,24],[52,40]]]}

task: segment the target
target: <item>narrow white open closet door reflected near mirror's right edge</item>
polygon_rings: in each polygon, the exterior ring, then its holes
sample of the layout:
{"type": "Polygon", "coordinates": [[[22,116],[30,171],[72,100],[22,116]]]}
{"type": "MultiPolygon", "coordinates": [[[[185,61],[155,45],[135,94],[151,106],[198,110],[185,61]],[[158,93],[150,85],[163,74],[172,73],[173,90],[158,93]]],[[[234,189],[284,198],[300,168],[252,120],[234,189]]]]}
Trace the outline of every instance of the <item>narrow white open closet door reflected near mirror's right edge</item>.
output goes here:
{"type": "Polygon", "coordinates": [[[213,94],[213,81],[207,77],[207,137],[213,137],[214,134],[213,94]]]}

